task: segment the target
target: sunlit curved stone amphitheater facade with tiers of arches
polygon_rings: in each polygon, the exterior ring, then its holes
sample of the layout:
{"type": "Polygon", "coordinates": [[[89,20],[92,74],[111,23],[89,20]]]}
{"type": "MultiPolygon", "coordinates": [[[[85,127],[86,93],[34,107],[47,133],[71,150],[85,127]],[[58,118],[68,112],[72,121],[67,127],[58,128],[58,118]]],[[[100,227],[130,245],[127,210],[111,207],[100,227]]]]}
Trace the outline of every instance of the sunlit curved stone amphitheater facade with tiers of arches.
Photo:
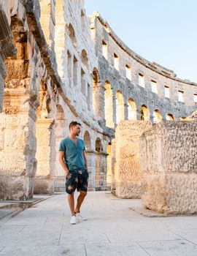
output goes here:
{"type": "Polygon", "coordinates": [[[89,189],[104,190],[123,121],[132,133],[132,121],[144,131],[197,109],[197,83],[134,53],[82,0],[0,0],[0,18],[1,200],[64,191],[58,144],[72,120],[82,124],[89,189]]]}

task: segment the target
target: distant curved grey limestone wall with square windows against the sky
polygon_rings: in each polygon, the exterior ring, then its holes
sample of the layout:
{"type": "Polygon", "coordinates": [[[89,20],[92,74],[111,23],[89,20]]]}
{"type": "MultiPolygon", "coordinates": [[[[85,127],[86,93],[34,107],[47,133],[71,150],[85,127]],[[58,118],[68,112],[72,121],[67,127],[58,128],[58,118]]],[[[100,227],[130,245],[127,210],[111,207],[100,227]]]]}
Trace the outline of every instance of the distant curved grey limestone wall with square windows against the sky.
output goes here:
{"type": "Polygon", "coordinates": [[[103,88],[101,111],[107,126],[114,127],[112,122],[117,124],[120,105],[117,102],[117,91],[123,97],[122,112],[124,111],[125,119],[140,120],[142,105],[149,110],[151,121],[155,119],[155,110],[161,113],[163,120],[169,118],[167,116],[169,114],[178,120],[189,116],[196,110],[194,102],[194,94],[197,93],[196,83],[180,80],[173,71],[151,63],[134,53],[117,37],[109,24],[97,12],[90,17],[90,22],[92,37],[96,43],[96,54],[99,56],[99,75],[103,88]],[[114,54],[117,56],[118,67],[115,67],[114,54]],[[143,75],[144,87],[140,86],[139,74],[143,75]],[[152,91],[151,81],[156,82],[156,93],[152,91]],[[169,87],[169,97],[165,95],[165,86],[169,87]],[[112,97],[106,95],[107,88],[110,88],[108,90],[111,91],[112,97]],[[178,99],[178,91],[183,92],[184,102],[178,99]],[[112,110],[109,110],[109,103],[106,105],[109,98],[112,102],[112,110]],[[106,108],[108,108],[108,113],[105,111],[106,108]],[[109,111],[112,113],[110,116],[113,121],[109,117],[109,111]],[[136,117],[132,118],[132,111],[136,113],[136,117]]]}

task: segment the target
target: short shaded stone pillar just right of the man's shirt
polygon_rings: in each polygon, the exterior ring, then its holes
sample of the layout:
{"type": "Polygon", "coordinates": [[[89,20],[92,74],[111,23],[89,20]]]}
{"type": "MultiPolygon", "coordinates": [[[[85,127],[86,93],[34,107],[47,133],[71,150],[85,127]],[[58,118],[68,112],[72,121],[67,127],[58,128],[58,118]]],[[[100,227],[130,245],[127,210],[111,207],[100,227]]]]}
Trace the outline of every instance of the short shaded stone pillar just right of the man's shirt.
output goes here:
{"type": "Polygon", "coordinates": [[[107,153],[95,152],[95,189],[107,190],[107,153]]]}

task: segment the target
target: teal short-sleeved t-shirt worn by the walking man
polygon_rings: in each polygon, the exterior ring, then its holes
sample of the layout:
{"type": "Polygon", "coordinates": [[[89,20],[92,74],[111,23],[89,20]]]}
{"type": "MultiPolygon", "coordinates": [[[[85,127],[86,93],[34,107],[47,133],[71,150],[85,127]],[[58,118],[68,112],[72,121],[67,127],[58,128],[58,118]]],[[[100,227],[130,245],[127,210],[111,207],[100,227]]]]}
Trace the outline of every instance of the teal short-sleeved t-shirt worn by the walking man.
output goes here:
{"type": "Polygon", "coordinates": [[[59,151],[64,151],[64,161],[69,170],[86,169],[85,159],[83,157],[85,145],[80,138],[77,138],[77,146],[74,143],[74,140],[71,140],[69,137],[61,140],[59,151]]]}

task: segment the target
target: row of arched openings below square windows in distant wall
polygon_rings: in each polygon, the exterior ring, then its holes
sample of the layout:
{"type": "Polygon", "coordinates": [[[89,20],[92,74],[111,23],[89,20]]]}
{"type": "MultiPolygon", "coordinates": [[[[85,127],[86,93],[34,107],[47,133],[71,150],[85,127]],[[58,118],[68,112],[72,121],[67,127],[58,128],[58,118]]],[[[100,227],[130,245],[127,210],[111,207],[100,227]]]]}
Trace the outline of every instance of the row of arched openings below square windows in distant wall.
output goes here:
{"type": "Polygon", "coordinates": [[[102,93],[101,88],[99,73],[96,69],[93,69],[93,110],[97,117],[102,118],[101,109],[104,108],[103,116],[107,127],[114,128],[115,124],[118,124],[119,121],[125,119],[142,121],[151,120],[153,122],[158,122],[163,119],[168,121],[174,120],[174,116],[171,113],[167,113],[166,116],[163,116],[158,109],[155,109],[150,113],[147,105],[137,107],[136,102],[132,98],[129,98],[128,101],[125,102],[122,92],[120,90],[115,92],[112,89],[109,80],[106,80],[104,83],[104,106],[101,104],[99,105],[99,100],[102,100],[98,95],[102,93]]]}

